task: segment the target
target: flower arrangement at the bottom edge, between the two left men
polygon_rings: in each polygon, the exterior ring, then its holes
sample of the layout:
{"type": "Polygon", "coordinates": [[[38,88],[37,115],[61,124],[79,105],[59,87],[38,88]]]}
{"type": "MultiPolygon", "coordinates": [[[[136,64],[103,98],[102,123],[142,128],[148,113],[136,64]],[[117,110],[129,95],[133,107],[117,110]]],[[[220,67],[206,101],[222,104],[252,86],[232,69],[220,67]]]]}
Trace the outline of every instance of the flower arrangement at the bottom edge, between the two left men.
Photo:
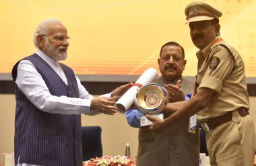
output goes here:
{"type": "Polygon", "coordinates": [[[83,166],[136,166],[136,163],[125,156],[103,156],[84,161],[83,166]]]}

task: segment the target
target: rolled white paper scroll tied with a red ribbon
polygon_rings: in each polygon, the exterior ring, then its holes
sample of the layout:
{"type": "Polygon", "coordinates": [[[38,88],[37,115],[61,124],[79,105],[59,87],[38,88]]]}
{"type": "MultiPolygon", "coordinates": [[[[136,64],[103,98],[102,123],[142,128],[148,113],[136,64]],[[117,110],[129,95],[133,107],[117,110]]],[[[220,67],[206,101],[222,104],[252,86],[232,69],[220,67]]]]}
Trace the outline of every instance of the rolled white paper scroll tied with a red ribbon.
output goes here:
{"type": "Polygon", "coordinates": [[[158,76],[158,71],[152,67],[142,73],[134,85],[117,101],[116,107],[119,113],[124,114],[133,105],[135,94],[139,87],[151,83],[158,76]]]}

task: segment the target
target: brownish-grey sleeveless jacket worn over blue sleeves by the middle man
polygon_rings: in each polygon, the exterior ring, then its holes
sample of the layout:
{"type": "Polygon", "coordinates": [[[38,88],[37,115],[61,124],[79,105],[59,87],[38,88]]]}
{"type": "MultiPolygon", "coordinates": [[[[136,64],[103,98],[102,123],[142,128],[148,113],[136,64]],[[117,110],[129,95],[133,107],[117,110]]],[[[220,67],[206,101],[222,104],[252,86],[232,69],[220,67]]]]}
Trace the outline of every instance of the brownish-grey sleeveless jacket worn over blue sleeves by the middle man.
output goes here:
{"type": "MultiPolygon", "coordinates": [[[[168,81],[160,77],[153,83],[164,85],[168,81]]],[[[182,79],[185,94],[192,93],[193,86],[194,83],[182,79]]],[[[188,132],[188,122],[185,120],[160,133],[139,128],[137,166],[198,166],[199,130],[195,134],[188,132]]]]}

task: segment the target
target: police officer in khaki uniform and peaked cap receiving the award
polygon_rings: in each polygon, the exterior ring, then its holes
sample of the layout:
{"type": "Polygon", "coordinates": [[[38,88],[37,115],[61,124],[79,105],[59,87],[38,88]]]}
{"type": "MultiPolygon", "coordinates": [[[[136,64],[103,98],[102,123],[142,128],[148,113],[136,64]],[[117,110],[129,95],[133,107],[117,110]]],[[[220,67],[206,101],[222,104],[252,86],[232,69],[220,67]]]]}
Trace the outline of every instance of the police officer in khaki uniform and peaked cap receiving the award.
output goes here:
{"type": "Polygon", "coordinates": [[[185,14],[193,44],[199,48],[194,96],[189,101],[169,103],[163,112],[177,112],[164,121],[147,116],[154,121],[150,129],[159,132],[197,113],[206,133],[211,165],[253,165],[256,139],[245,66],[241,55],[220,36],[222,12],[193,2],[185,14]]]}

